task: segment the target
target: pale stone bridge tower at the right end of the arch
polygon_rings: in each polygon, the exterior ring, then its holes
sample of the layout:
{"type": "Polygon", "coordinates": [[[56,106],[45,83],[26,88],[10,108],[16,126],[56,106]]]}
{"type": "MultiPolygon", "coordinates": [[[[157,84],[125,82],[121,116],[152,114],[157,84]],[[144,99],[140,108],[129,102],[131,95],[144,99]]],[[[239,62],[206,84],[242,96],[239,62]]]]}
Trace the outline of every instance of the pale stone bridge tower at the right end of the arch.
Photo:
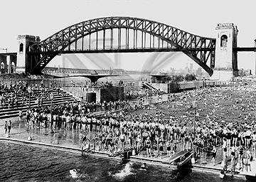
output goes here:
{"type": "Polygon", "coordinates": [[[238,76],[238,54],[233,51],[237,47],[238,28],[233,23],[219,23],[215,30],[215,68],[211,78],[231,80],[238,76]]]}

